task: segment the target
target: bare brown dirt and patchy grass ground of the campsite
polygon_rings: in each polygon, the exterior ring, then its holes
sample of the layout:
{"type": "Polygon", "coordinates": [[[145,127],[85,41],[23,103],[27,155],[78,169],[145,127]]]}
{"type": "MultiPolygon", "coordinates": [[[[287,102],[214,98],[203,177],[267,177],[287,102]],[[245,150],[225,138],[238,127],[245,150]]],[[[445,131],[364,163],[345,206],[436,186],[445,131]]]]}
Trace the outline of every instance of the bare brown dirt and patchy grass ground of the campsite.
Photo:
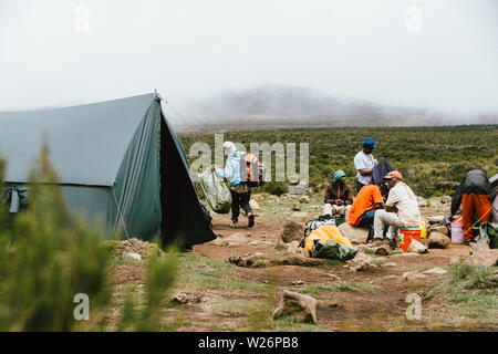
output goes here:
{"type": "MultiPolygon", "coordinates": [[[[165,317],[177,319],[175,331],[496,331],[496,321],[480,323],[481,312],[461,316],[459,304],[440,298],[424,298],[428,289],[444,277],[429,274],[406,281],[403,273],[422,272],[435,267],[447,268],[453,258],[469,254],[466,246],[450,244],[444,250],[430,249],[428,254],[393,252],[387,257],[361,252],[375,259],[378,267],[353,272],[339,261],[314,267],[272,266],[243,268],[227,262],[231,256],[257,252],[286,256],[287,246],[280,239],[286,219],[304,222],[319,212],[320,198],[290,211],[292,200],[272,198],[260,201],[256,226],[247,228],[247,218],[231,229],[229,215],[214,214],[214,231],[218,241],[194,247],[178,257],[178,277],[174,292],[195,294],[201,299],[165,309],[165,317]],[[239,242],[222,242],[238,233],[239,242]],[[299,281],[299,284],[295,284],[299,281]],[[288,320],[272,321],[271,313],[283,290],[309,294],[318,300],[318,324],[302,324],[288,320]],[[422,299],[422,319],[409,321],[406,311],[408,294],[422,299]]],[[[444,214],[448,206],[423,208],[424,217],[444,214]]],[[[426,241],[425,241],[426,242],[426,241]]],[[[370,252],[367,252],[370,251],[370,252]]],[[[118,304],[110,313],[116,317],[126,293],[144,295],[143,264],[121,264],[114,271],[114,292],[118,304]]],[[[491,304],[492,306],[492,304],[491,304]]],[[[479,310],[480,311],[480,310],[479,310]]],[[[495,316],[496,317],[496,316],[495,316]]]]}

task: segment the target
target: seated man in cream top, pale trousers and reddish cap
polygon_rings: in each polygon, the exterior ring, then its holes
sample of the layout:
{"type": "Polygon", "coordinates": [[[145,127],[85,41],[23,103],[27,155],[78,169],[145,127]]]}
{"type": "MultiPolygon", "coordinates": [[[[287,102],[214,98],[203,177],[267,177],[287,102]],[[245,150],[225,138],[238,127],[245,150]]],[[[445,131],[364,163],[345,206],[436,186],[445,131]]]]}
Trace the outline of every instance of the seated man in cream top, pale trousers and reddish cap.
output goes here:
{"type": "Polygon", "coordinates": [[[385,202],[385,209],[380,209],[374,217],[374,240],[382,239],[385,226],[391,226],[392,248],[397,247],[400,228],[418,228],[421,226],[421,211],[417,198],[404,181],[400,171],[393,170],[385,177],[388,181],[390,195],[385,202]]]}

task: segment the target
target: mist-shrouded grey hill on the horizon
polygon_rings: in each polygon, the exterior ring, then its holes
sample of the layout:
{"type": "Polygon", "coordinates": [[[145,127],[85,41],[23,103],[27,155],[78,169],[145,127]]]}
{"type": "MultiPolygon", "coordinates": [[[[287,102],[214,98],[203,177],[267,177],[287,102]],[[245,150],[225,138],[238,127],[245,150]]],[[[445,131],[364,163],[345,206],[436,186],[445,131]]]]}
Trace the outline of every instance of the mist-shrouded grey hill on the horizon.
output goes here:
{"type": "Polygon", "coordinates": [[[498,123],[497,114],[471,118],[452,116],[428,110],[338,100],[310,88],[286,85],[226,92],[190,106],[186,113],[185,117],[195,122],[191,125],[196,131],[498,123]]]}

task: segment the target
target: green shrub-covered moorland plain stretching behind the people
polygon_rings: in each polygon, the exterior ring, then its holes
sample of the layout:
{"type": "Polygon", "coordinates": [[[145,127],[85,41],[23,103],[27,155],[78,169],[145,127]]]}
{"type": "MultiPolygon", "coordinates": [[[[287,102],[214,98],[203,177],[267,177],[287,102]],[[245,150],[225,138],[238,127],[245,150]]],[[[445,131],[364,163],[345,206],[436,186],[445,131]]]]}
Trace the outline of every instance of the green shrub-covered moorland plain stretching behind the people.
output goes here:
{"type": "MultiPolygon", "coordinates": [[[[353,158],[365,136],[376,140],[375,158],[386,159],[405,176],[416,194],[426,198],[450,194],[450,183],[459,183],[473,168],[485,170],[489,177],[498,173],[498,125],[237,132],[226,133],[224,138],[242,143],[248,149],[250,143],[280,142],[297,143],[299,150],[299,143],[309,143],[310,185],[313,186],[330,179],[331,170],[335,169],[343,169],[346,181],[352,185],[356,174],[353,158]]],[[[205,142],[214,150],[212,134],[180,135],[179,138],[187,154],[195,142],[205,142]]],[[[191,163],[196,158],[188,160],[191,163]]],[[[286,184],[268,183],[263,190],[280,194],[286,190],[286,184]]]]}

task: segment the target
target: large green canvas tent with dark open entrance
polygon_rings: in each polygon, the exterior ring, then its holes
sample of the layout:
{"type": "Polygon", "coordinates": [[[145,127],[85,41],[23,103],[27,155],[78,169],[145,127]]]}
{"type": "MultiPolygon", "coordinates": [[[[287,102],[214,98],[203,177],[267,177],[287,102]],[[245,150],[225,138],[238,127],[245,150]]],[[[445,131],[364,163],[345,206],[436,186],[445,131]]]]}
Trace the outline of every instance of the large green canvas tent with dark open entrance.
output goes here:
{"type": "Polygon", "coordinates": [[[122,230],[144,240],[160,235],[164,242],[181,236],[184,246],[216,238],[157,95],[0,112],[10,195],[25,187],[44,139],[71,210],[100,216],[106,235],[122,230]]]}

